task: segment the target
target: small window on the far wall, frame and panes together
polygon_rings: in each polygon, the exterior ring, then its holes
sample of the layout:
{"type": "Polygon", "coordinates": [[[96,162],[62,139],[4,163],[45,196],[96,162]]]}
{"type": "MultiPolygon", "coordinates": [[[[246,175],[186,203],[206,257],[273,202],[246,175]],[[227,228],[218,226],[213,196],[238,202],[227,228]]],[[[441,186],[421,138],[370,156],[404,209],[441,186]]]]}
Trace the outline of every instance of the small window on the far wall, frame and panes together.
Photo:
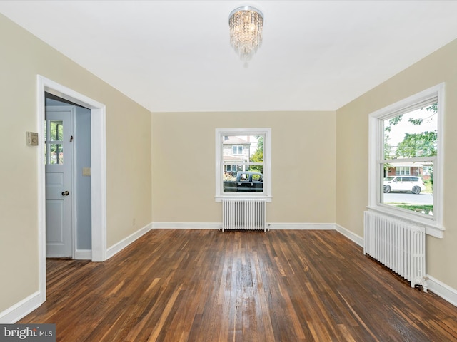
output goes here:
{"type": "Polygon", "coordinates": [[[216,129],[216,201],[271,200],[271,129],[216,129]]]}

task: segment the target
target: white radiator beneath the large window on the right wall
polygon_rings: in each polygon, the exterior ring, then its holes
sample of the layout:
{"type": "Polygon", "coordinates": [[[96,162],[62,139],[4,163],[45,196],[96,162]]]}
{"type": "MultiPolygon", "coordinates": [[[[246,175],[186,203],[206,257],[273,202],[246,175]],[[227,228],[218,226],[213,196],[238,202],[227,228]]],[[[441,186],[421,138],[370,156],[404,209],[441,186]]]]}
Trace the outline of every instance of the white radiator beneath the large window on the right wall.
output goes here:
{"type": "Polygon", "coordinates": [[[364,212],[363,231],[363,254],[410,281],[411,287],[421,285],[427,291],[425,227],[364,212]]]}

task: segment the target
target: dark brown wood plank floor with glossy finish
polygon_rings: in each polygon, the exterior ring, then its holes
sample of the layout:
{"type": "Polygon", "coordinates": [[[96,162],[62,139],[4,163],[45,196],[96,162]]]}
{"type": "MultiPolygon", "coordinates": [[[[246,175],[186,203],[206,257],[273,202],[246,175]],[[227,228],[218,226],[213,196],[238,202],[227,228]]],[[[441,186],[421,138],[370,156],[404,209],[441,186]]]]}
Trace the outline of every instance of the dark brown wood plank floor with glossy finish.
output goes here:
{"type": "Polygon", "coordinates": [[[49,259],[19,323],[57,341],[457,341],[457,308],[336,231],[152,230],[104,263],[49,259]]]}

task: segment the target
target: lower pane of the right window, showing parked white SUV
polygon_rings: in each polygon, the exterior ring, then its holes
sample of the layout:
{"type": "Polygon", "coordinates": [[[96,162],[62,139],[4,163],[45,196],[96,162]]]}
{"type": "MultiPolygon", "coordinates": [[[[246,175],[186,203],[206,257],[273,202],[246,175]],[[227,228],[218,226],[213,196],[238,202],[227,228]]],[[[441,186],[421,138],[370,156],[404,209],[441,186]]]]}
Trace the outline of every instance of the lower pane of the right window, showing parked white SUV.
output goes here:
{"type": "Polygon", "coordinates": [[[433,215],[433,162],[383,164],[384,179],[381,184],[381,203],[433,215]],[[411,171],[397,175],[397,169],[411,171]]]}

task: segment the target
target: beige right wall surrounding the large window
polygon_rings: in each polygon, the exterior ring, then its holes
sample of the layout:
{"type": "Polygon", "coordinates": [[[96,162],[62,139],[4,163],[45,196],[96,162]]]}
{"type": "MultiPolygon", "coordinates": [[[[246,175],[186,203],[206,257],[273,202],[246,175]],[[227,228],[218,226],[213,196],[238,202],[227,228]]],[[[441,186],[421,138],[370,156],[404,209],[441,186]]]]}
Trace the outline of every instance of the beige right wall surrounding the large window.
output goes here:
{"type": "Polygon", "coordinates": [[[368,205],[368,115],[398,100],[446,83],[443,239],[428,237],[427,273],[457,289],[457,41],[377,86],[336,113],[336,222],[363,235],[368,205]]]}

